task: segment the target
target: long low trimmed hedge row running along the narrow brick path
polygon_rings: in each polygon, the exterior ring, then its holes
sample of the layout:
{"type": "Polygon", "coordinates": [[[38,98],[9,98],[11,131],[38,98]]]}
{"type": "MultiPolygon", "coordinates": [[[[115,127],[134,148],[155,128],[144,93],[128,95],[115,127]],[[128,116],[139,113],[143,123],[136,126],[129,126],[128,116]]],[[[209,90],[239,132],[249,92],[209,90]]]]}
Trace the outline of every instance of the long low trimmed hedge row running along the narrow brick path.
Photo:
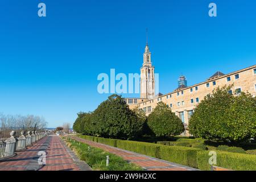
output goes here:
{"type": "MultiPolygon", "coordinates": [[[[163,144],[136,142],[131,140],[119,140],[78,135],[78,137],[94,142],[108,144],[113,147],[122,148],[139,154],[152,156],[155,158],[167,160],[170,162],[183,164],[201,170],[210,170],[209,151],[200,150],[194,147],[167,146],[163,144]]],[[[225,151],[217,152],[218,167],[224,167],[233,170],[256,170],[255,155],[237,154],[225,151]]]]}

